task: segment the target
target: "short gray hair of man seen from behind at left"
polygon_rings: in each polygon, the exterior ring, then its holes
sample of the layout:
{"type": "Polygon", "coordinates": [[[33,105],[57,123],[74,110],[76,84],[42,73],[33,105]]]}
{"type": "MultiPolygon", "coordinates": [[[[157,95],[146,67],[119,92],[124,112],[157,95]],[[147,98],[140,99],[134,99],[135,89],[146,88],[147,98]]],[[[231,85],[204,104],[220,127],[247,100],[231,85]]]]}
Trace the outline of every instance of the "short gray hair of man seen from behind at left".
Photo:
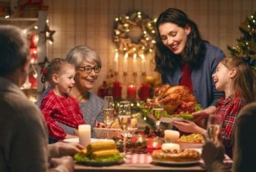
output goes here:
{"type": "Polygon", "coordinates": [[[12,74],[28,58],[28,42],[22,30],[14,25],[0,25],[0,76],[12,74]]]}

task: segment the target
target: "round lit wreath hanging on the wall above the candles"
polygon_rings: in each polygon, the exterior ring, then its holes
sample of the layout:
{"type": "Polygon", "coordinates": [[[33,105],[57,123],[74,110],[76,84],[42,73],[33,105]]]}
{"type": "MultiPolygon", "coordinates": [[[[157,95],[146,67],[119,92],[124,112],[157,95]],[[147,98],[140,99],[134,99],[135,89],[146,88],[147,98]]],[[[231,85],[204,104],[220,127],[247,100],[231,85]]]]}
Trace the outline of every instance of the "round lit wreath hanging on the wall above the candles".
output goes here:
{"type": "Polygon", "coordinates": [[[156,19],[143,12],[128,12],[116,18],[113,41],[122,54],[148,54],[156,43],[156,19]]]}

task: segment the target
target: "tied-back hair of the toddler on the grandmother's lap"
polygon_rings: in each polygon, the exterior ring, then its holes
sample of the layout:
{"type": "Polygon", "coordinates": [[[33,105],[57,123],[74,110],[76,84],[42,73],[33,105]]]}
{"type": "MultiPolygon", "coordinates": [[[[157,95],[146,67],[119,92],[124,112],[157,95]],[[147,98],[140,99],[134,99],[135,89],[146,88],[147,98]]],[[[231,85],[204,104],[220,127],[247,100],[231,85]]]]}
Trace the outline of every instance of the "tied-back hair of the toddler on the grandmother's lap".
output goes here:
{"type": "Polygon", "coordinates": [[[42,69],[42,83],[46,81],[51,83],[51,76],[59,74],[65,65],[73,65],[63,58],[54,58],[45,68],[42,69]]]}

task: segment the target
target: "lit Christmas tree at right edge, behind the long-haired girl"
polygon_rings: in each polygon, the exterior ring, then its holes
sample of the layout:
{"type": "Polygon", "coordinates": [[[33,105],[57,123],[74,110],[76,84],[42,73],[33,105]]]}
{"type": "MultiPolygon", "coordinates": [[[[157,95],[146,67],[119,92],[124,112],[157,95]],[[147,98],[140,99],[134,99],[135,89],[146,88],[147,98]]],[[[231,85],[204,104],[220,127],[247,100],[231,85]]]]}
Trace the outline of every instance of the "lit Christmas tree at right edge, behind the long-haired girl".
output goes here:
{"type": "Polygon", "coordinates": [[[228,50],[232,56],[250,57],[256,60],[256,12],[246,17],[246,20],[239,26],[240,32],[243,34],[237,39],[237,45],[228,46],[228,50]]]}

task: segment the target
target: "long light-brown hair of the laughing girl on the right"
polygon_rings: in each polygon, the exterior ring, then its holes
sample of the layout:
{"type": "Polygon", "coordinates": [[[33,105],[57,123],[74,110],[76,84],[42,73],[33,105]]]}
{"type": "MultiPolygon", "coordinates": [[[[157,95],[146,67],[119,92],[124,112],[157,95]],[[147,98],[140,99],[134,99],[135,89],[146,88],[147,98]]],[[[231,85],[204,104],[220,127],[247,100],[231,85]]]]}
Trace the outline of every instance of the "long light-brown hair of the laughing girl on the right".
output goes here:
{"type": "Polygon", "coordinates": [[[237,69],[237,76],[233,80],[235,92],[238,92],[246,103],[253,102],[255,100],[255,70],[240,57],[228,56],[220,63],[228,69],[237,69]]]}

